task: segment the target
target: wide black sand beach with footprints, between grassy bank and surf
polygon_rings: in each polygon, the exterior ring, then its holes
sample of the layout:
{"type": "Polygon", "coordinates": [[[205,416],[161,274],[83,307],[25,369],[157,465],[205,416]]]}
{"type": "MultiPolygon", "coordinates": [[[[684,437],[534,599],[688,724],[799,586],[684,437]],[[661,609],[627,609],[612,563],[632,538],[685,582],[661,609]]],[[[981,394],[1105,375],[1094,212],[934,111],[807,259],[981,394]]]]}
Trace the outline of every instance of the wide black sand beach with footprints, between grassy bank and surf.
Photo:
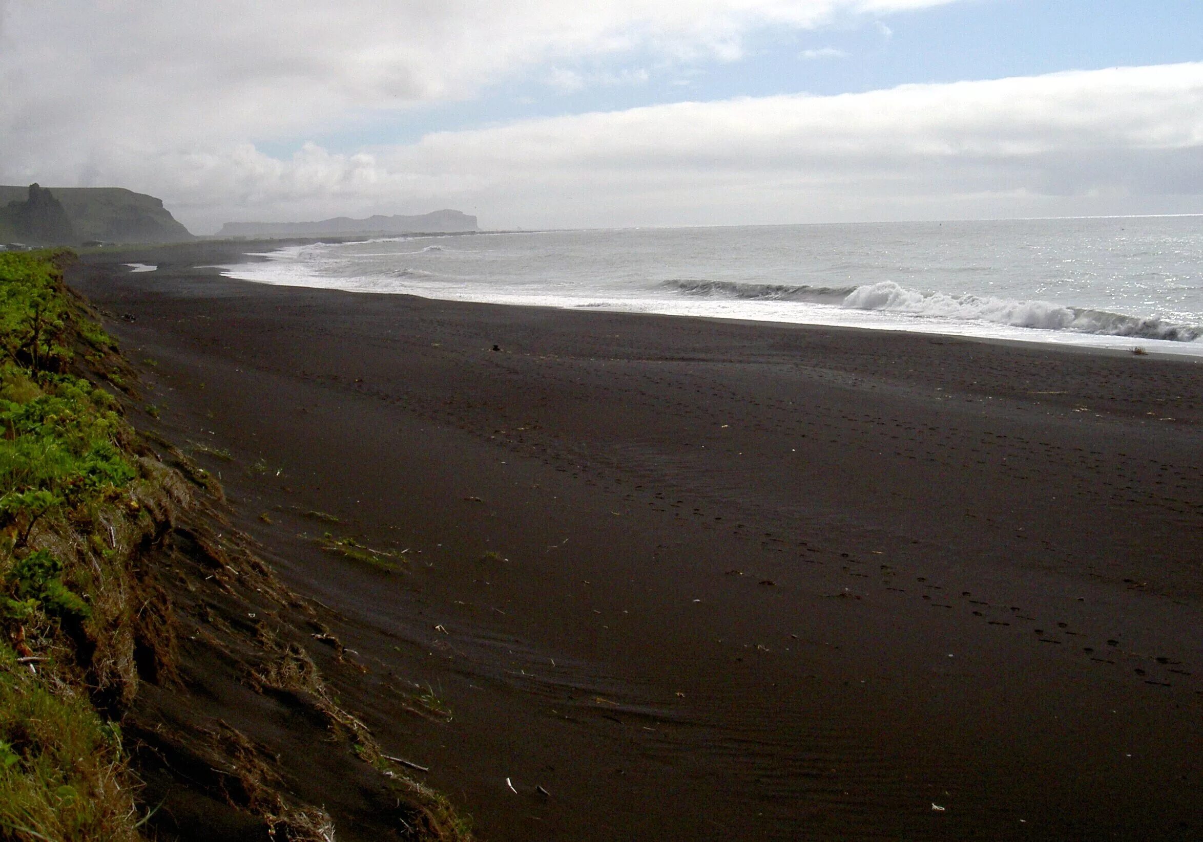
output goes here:
{"type": "Polygon", "coordinates": [[[1203,837],[1199,363],[192,268],[239,250],[69,280],[484,838],[1203,837]]]}

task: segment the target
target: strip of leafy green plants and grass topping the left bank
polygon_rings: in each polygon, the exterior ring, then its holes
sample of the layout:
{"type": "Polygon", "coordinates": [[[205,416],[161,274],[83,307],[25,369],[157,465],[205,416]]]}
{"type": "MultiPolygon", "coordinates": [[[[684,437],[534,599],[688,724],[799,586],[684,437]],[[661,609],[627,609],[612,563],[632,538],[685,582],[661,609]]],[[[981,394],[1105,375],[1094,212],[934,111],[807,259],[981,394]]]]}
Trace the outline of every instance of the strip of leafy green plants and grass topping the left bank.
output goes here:
{"type": "Polygon", "coordinates": [[[130,682],[108,634],[130,610],[115,526],[99,527],[137,509],[138,472],[115,400],[70,374],[113,342],[64,257],[0,253],[0,838],[135,840],[119,730],[93,697],[130,682]]]}

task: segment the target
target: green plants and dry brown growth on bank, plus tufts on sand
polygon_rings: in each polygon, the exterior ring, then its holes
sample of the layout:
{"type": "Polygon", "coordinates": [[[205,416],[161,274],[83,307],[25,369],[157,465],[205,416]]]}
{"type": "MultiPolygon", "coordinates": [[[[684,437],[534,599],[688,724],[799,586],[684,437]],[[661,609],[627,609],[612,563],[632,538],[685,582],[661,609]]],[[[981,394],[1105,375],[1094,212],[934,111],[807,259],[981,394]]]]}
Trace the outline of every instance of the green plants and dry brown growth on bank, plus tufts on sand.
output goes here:
{"type": "MultiPolygon", "coordinates": [[[[150,735],[156,757],[200,770],[205,781],[188,777],[188,786],[257,818],[269,836],[333,838],[330,816],[294,806],[272,757],[241,731],[158,719],[148,729],[138,718],[147,699],[134,704],[141,681],[188,693],[185,675],[196,676],[177,658],[179,605],[156,579],[160,560],[212,571],[180,579],[192,592],[213,580],[214,592],[241,587],[272,605],[301,599],[260,559],[208,532],[206,518],[215,515],[186,480],[214,501],[223,500],[220,485],[170,442],[137,435],[118,400],[95,382],[128,392],[132,377],[113,340],[64,286],[60,267],[70,258],[0,252],[0,842],[143,838],[149,814],[126,751],[142,751],[137,746],[144,748],[150,735]],[[179,472],[154,458],[147,441],[158,441],[179,472]],[[180,543],[170,543],[168,535],[180,543]],[[123,747],[123,721],[141,744],[123,747]]],[[[404,561],[352,538],[322,541],[380,567],[404,561]]],[[[242,651],[238,668],[230,668],[236,680],[303,699],[330,735],[345,738],[389,778],[419,838],[470,838],[445,799],[387,768],[367,727],[339,706],[304,649],[288,639],[286,623],[260,619],[247,632],[220,611],[206,614],[213,645],[227,655],[242,651]]],[[[319,639],[332,641],[342,657],[332,634],[319,639]]],[[[450,716],[433,691],[414,704],[450,716]]]]}

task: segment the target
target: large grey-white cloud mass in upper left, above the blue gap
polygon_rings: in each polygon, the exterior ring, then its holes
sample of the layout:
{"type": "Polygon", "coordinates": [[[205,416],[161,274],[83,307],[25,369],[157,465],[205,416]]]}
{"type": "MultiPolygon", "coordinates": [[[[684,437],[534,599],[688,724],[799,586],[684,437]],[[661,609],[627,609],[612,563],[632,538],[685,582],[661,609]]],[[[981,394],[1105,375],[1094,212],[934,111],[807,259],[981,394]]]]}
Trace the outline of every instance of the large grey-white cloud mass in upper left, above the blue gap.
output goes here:
{"type": "Polygon", "coordinates": [[[635,49],[733,60],[764,28],[954,1],[8,0],[0,137],[20,127],[37,149],[82,126],[93,143],[159,148],[269,138],[467,97],[523,68],[635,49]]]}

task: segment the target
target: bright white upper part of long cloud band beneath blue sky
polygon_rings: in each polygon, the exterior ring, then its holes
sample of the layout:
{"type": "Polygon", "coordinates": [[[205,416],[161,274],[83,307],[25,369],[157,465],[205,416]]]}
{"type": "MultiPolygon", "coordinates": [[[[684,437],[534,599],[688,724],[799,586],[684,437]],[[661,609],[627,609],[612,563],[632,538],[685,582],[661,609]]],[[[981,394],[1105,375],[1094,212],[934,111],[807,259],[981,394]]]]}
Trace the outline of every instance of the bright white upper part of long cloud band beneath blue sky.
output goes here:
{"type": "Polygon", "coordinates": [[[682,102],[434,133],[393,153],[417,167],[896,172],[915,161],[1203,148],[1203,64],[903,85],[840,96],[682,102]]]}

